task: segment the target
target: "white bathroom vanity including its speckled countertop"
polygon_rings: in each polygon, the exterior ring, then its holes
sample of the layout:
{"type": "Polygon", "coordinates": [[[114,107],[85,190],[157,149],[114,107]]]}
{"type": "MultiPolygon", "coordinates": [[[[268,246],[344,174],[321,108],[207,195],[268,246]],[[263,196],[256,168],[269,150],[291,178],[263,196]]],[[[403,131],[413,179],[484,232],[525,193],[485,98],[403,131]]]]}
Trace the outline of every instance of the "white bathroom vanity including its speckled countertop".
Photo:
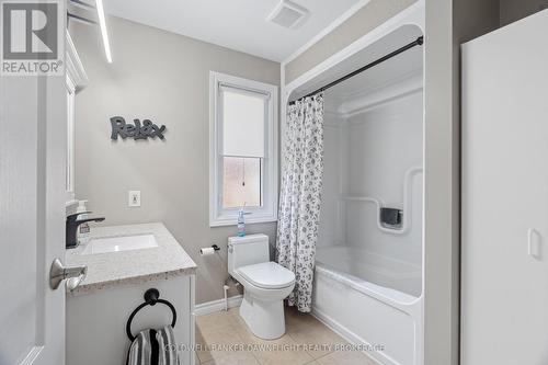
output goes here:
{"type": "MultiPolygon", "coordinates": [[[[194,364],[196,264],[161,223],[94,227],[90,242],[68,250],[66,262],[88,266],[87,277],[67,293],[67,365],[124,365],[128,318],[151,288],[176,311],[173,332],[181,365],[194,364]],[[142,236],[153,236],[156,244],[135,249],[132,238],[142,236]],[[125,242],[116,250],[105,249],[104,242],[121,238],[125,242]],[[90,253],[90,244],[101,250],[90,253]]],[[[169,306],[147,305],[134,317],[132,334],[169,326],[172,319],[169,306]]]]}

